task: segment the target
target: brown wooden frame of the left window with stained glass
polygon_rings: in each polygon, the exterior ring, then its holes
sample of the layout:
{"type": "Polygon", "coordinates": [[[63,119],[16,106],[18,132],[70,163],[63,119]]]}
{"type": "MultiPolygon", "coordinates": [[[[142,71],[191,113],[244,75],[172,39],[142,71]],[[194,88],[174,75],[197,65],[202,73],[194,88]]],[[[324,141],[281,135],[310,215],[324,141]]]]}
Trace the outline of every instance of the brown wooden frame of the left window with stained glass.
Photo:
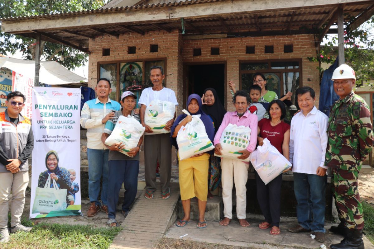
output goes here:
{"type": "Polygon", "coordinates": [[[120,83],[119,83],[119,74],[120,74],[120,64],[125,62],[142,62],[142,68],[143,68],[143,75],[142,75],[142,82],[145,81],[145,72],[144,72],[144,68],[145,68],[145,62],[148,62],[148,61],[156,61],[156,60],[163,60],[164,61],[164,75],[165,75],[165,79],[164,79],[164,84],[165,84],[165,87],[167,85],[167,77],[166,77],[166,68],[167,68],[167,59],[166,57],[154,57],[154,58],[146,58],[146,59],[129,59],[129,60],[102,60],[102,61],[98,61],[97,62],[97,73],[96,73],[96,79],[99,79],[100,78],[100,66],[101,65],[105,65],[105,64],[116,64],[116,68],[117,68],[117,74],[116,74],[116,80],[117,80],[117,83],[116,83],[116,101],[119,102],[120,101],[120,83]]]}

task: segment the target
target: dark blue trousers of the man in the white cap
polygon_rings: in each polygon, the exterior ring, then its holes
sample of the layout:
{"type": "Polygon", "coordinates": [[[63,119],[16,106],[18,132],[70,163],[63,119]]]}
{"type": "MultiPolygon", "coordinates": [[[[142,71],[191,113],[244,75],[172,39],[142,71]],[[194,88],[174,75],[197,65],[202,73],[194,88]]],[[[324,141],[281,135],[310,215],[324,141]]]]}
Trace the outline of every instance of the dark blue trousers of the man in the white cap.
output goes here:
{"type": "Polygon", "coordinates": [[[122,183],[125,185],[125,195],[122,211],[129,211],[131,204],[137,196],[139,161],[112,160],[109,161],[108,183],[108,218],[116,218],[116,207],[119,199],[119,190],[122,183]]]}

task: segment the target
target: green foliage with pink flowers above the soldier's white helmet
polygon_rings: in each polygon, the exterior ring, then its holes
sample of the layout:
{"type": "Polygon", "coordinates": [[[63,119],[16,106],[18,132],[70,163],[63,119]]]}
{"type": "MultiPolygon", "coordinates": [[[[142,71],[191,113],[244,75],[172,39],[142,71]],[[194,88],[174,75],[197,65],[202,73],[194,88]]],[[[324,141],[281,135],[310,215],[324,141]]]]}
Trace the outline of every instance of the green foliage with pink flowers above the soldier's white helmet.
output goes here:
{"type": "MultiPolygon", "coordinates": [[[[351,18],[352,22],[354,18],[351,18]]],[[[349,23],[350,23],[349,22],[349,23]]],[[[350,65],[356,72],[357,85],[374,79],[374,39],[370,29],[374,29],[374,16],[365,24],[355,30],[344,31],[344,57],[346,64],[350,65]]],[[[325,36],[328,38],[328,35],[325,36]]],[[[338,55],[338,38],[331,38],[328,43],[320,47],[316,57],[308,57],[310,61],[334,63],[338,55]]],[[[322,68],[318,68],[322,71],[322,68]]]]}

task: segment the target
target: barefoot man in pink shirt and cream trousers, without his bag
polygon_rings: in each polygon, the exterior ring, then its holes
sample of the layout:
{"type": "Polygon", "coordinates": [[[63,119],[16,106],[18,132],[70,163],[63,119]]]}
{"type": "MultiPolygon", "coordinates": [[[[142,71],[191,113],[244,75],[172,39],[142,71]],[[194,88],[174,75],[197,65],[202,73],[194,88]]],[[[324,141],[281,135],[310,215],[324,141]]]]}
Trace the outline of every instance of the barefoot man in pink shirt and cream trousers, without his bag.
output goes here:
{"type": "Polygon", "coordinates": [[[240,150],[242,155],[236,159],[221,158],[221,170],[222,170],[222,199],[223,199],[223,213],[225,218],[220,222],[220,225],[229,225],[232,219],[232,189],[233,183],[235,183],[236,189],[236,217],[239,223],[243,227],[248,227],[249,223],[245,220],[245,208],[246,208],[246,187],[245,184],[248,180],[248,167],[249,164],[242,162],[248,158],[251,152],[256,148],[257,142],[257,116],[247,111],[250,98],[248,93],[245,91],[236,91],[233,97],[233,104],[235,106],[235,112],[227,112],[223,118],[222,124],[214,137],[214,152],[217,155],[221,155],[221,144],[220,138],[223,130],[229,124],[236,124],[237,126],[244,125],[251,128],[252,132],[249,137],[249,145],[247,149],[240,150]]]}

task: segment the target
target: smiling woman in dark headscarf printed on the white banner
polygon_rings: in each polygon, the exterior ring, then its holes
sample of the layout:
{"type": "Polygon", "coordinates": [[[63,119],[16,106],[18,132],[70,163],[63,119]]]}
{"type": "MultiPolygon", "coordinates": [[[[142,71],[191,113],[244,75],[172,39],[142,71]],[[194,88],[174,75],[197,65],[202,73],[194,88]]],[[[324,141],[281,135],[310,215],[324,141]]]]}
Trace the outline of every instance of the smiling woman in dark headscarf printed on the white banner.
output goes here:
{"type": "Polygon", "coordinates": [[[52,179],[55,179],[59,189],[68,190],[66,196],[66,204],[67,206],[69,206],[71,199],[74,200],[74,196],[69,192],[71,189],[70,172],[65,168],[59,167],[58,161],[59,158],[57,152],[51,150],[47,153],[45,159],[47,169],[40,173],[38,187],[43,188],[48,179],[48,175],[50,175],[50,187],[53,187],[52,179]]]}

